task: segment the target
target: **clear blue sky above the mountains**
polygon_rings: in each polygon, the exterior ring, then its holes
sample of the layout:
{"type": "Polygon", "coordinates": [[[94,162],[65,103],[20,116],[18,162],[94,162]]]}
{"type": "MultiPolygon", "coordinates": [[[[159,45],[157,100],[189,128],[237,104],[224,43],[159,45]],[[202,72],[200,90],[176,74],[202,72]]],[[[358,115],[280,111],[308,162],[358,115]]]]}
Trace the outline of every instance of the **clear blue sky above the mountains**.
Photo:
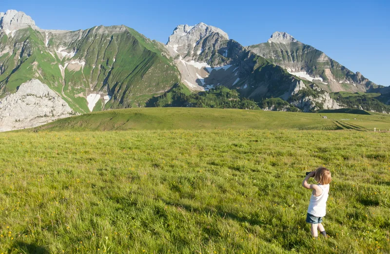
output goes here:
{"type": "Polygon", "coordinates": [[[390,85],[389,0],[1,0],[0,11],[8,9],[24,11],[43,29],[125,24],[164,43],[178,24],[214,25],[245,46],[283,31],[390,85]]]}

